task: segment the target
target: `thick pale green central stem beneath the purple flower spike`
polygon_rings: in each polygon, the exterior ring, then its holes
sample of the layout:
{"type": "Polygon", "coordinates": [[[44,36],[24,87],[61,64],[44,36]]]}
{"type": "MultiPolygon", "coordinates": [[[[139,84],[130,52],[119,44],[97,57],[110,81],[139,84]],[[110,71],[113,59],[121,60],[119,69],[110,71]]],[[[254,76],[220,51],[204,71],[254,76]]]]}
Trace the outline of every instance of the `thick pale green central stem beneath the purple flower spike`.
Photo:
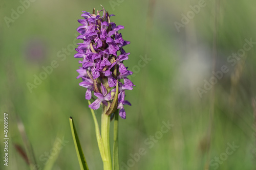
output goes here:
{"type": "Polygon", "coordinates": [[[112,170],[112,160],[110,151],[110,116],[105,114],[108,110],[108,106],[103,105],[102,115],[101,115],[101,138],[105,150],[105,161],[103,161],[104,170],[112,170]]]}

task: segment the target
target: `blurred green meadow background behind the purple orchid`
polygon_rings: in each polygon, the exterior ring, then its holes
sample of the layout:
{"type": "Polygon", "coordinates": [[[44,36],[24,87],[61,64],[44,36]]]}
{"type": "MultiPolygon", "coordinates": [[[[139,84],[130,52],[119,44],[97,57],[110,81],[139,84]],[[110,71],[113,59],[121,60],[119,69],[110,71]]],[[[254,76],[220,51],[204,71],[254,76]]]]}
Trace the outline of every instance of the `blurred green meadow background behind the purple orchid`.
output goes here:
{"type": "MultiPolygon", "coordinates": [[[[15,149],[15,145],[25,147],[17,115],[32,144],[37,169],[79,169],[70,116],[89,168],[102,169],[92,115],[84,99],[86,89],[76,79],[80,64],[73,57],[81,11],[100,10],[100,5],[116,15],[112,21],[125,27],[120,32],[131,41],[124,48],[131,53],[125,65],[135,72],[130,78],[136,87],[126,92],[132,106],[125,107],[126,119],[119,121],[120,169],[255,169],[256,44],[243,57],[227,60],[243,49],[245,39],[256,42],[256,2],[252,0],[36,0],[24,11],[17,0],[1,0],[0,127],[4,127],[4,112],[9,113],[10,140],[8,167],[0,144],[0,169],[29,169],[15,149]],[[182,23],[183,14],[200,2],[205,6],[177,29],[175,23],[182,23]],[[20,14],[15,16],[17,8],[20,14]],[[15,19],[6,21],[7,17],[15,19]],[[51,74],[35,85],[34,76],[52,62],[51,74]],[[140,66],[141,62],[145,64],[140,66]],[[214,76],[212,70],[225,65],[229,71],[200,96],[198,90],[214,76]],[[35,86],[29,90],[28,83],[35,86]],[[163,122],[173,126],[161,135],[163,122]],[[155,135],[159,139],[152,139],[155,135]],[[65,142],[55,153],[59,140],[65,142]],[[226,153],[231,152],[228,143],[237,146],[232,154],[226,153]],[[134,160],[140,148],[145,155],[134,160]]],[[[100,114],[96,112],[98,120],[100,114]]],[[[1,130],[1,141],[3,135],[1,130]]]]}

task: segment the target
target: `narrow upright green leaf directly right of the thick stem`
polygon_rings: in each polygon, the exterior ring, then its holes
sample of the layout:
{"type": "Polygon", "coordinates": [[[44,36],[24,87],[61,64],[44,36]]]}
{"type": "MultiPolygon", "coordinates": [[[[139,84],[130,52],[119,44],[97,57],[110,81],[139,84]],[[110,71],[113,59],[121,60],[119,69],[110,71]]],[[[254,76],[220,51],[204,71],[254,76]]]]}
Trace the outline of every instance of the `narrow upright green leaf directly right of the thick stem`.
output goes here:
{"type": "Polygon", "coordinates": [[[115,170],[119,170],[119,149],[118,149],[118,110],[115,112],[114,120],[114,147],[113,147],[113,166],[115,170]]]}

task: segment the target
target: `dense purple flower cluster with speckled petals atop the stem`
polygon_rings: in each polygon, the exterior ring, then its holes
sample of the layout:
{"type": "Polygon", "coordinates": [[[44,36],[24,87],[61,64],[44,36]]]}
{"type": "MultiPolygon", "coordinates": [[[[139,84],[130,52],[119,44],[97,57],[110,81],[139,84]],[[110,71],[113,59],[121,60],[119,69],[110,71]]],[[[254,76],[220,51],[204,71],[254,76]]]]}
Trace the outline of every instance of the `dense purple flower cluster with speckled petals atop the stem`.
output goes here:
{"type": "Polygon", "coordinates": [[[127,70],[123,65],[123,61],[127,60],[130,53],[123,50],[123,46],[130,44],[129,41],[122,39],[120,29],[123,26],[116,26],[110,21],[107,11],[103,10],[93,13],[85,12],[81,15],[84,19],[78,19],[82,26],[77,28],[81,34],[77,39],[82,39],[82,43],[78,43],[76,48],[77,54],[75,58],[82,58],[79,63],[82,67],[77,69],[78,78],[82,78],[79,84],[86,87],[86,99],[92,98],[92,91],[97,99],[89,105],[90,108],[96,110],[100,104],[110,106],[106,114],[119,110],[122,118],[126,117],[123,105],[130,105],[124,100],[125,90],[132,90],[135,86],[127,76],[133,72],[127,70]],[[101,17],[99,12],[103,11],[101,17]],[[121,80],[123,79],[123,83],[121,80]],[[118,90],[117,90],[118,89],[118,90]]]}

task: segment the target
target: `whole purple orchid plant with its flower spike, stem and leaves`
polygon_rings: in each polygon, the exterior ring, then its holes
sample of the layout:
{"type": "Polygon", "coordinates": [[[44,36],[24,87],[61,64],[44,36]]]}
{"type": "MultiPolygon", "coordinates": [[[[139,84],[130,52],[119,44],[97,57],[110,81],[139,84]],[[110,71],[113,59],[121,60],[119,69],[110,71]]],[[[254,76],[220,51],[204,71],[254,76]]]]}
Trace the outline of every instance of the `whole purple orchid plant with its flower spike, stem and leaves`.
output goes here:
{"type": "MultiPolygon", "coordinates": [[[[79,74],[77,79],[81,78],[82,82],[79,85],[87,89],[85,99],[88,100],[93,115],[103,169],[112,170],[114,167],[118,170],[118,117],[126,118],[124,105],[131,106],[131,103],[124,100],[125,90],[132,90],[135,85],[127,78],[133,72],[128,70],[123,63],[129,59],[128,56],[130,55],[123,49],[123,46],[130,44],[130,42],[123,40],[121,33],[118,32],[124,27],[111,22],[110,17],[113,15],[109,15],[104,8],[101,11],[97,11],[97,13],[95,9],[93,13],[83,11],[84,13],[81,15],[83,19],[78,19],[82,26],[77,28],[77,32],[80,34],[77,39],[81,39],[83,42],[77,44],[78,47],[75,49],[77,53],[74,57],[80,59],[78,63],[81,64],[81,67],[77,69],[79,74]],[[99,14],[101,11],[103,11],[102,16],[99,14]],[[92,96],[92,93],[96,98],[92,96]],[[91,103],[90,100],[93,100],[93,102],[91,103]],[[100,134],[94,110],[98,110],[101,106],[100,134]],[[110,121],[114,117],[112,162],[110,121]]],[[[82,153],[72,117],[70,118],[70,124],[80,168],[89,169],[82,153]]]]}

